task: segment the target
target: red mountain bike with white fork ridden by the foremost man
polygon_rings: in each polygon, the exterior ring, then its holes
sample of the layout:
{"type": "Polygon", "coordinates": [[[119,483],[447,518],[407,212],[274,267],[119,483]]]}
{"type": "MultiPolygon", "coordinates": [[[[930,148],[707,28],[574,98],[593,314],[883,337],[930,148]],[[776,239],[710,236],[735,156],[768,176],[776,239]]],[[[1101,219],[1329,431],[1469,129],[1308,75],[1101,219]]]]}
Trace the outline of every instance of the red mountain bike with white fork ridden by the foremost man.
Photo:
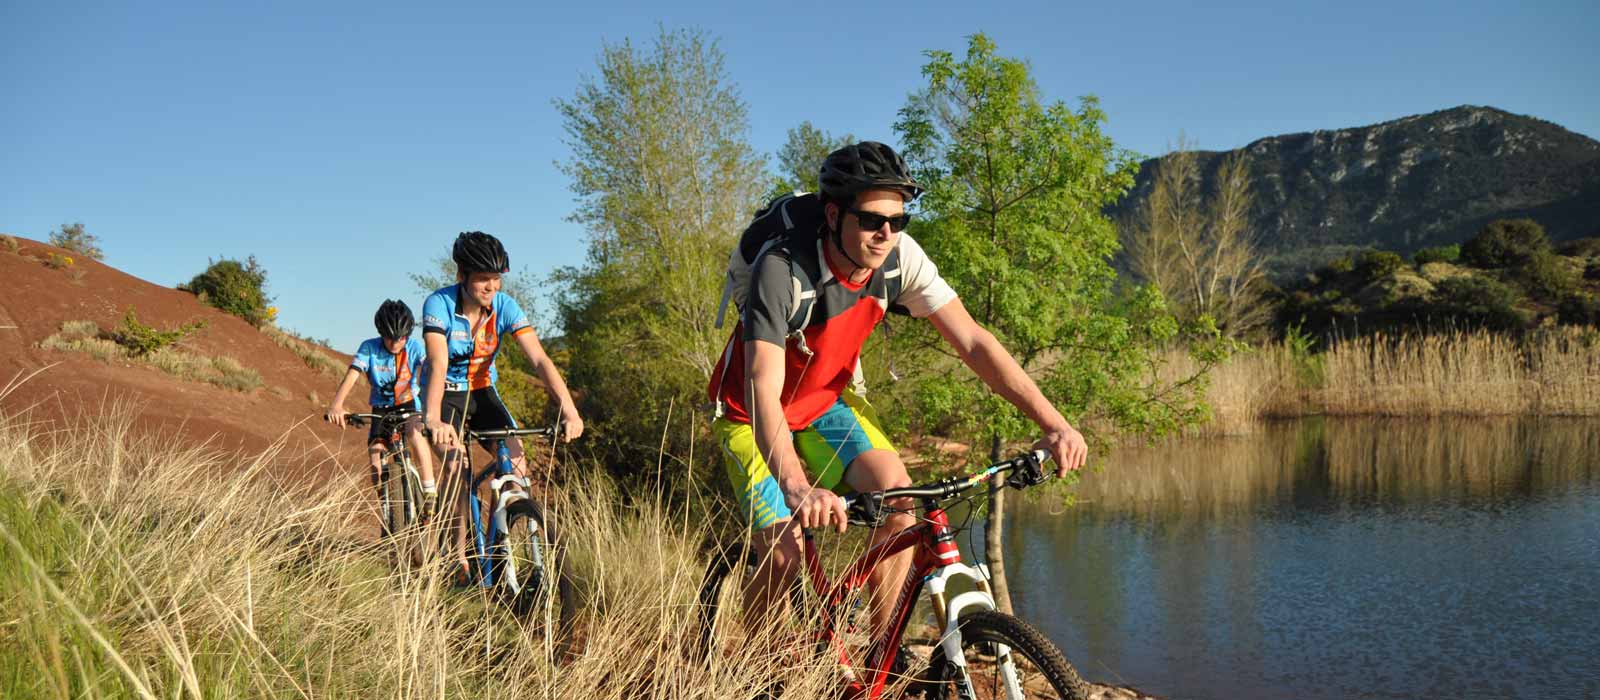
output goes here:
{"type": "MultiPolygon", "coordinates": [[[[915,499],[914,508],[920,523],[896,532],[856,558],[835,580],[822,574],[816,542],[805,534],[805,579],[818,593],[821,614],[810,631],[816,649],[837,658],[842,671],[843,697],[878,698],[899,671],[893,670],[899,657],[901,636],[910,618],[918,593],[926,590],[939,626],[939,642],[933,657],[909,690],[922,692],[925,698],[958,697],[966,700],[989,698],[1086,698],[1088,686],[1067,663],[1061,650],[1032,625],[995,609],[989,590],[989,569],[984,564],[962,563],[955,543],[955,529],[946,515],[944,502],[962,495],[990,476],[1010,475],[1006,484],[1022,489],[1045,481],[1040,465],[1048,452],[1035,451],[1005,460],[970,476],[957,476],[931,484],[910,486],[859,494],[846,499],[851,524],[877,526],[891,511],[883,505],[891,499],[915,499]],[[872,566],[899,551],[915,550],[912,574],[899,591],[890,625],[878,639],[866,644],[866,658],[858,665],[850,658],[846,646],[856,646],[869,625],[858,628],[854,611],[864,599],[867,574],[872,566]],[[968,579],[974,590],[947,596],[949,583],[968,579]],[[846,641],[850,644],[846,644],[846,641]]],[[[733,572],[734,561],[744,564],[744,575],[754,572],[757,561],[736,547],[730,556],[712,561],[706,583],[701,587],[701,623],[707,650],[717,649],[718,626],[738,625],[738,615],[717,615],[718,603],[738,604],[741,585],[734,585],[725,598],[722,588],[733,572]]],[[[742,582],[739,582],[742,583],[742,582]]],[[[861,611],[864,612],[864,611],[861,611]]]]}

